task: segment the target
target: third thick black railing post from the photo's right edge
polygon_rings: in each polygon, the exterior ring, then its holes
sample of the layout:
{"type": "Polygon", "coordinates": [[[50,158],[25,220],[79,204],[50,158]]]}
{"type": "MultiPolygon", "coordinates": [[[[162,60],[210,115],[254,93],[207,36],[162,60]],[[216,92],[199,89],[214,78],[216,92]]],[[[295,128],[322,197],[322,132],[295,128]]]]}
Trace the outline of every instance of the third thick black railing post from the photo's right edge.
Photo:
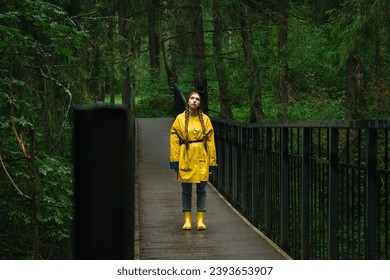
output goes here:
{"type": "Polygon", "coordinates": [[[311,129],[302,132],[302,194],[301,194],[301,259],[307,260],[309,253],[309,202],[310,202],[310,145],[311,129]]]}

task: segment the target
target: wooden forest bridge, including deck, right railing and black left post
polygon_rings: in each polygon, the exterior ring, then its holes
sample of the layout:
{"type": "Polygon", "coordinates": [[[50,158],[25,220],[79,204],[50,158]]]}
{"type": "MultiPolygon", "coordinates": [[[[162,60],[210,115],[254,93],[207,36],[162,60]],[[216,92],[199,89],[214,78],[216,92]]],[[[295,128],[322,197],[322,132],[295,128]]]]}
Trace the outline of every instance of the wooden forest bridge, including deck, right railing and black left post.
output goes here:
{"type": "Polygon", "coordinates": [[[215,120],[206,231],[181,229],[172,122],[75,111],[75,259],[389,259],[389,120],[215,120]]]}

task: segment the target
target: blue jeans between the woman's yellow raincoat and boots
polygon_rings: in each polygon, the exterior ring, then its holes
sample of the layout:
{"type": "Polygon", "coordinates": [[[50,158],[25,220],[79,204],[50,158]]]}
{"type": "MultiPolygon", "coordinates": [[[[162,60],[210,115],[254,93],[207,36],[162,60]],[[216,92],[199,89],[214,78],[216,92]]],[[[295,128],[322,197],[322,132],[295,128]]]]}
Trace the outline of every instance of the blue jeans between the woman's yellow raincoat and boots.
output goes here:
{"type": "MultiPolygon", "coordinates": [[[[196,184],[196,207],[198,212],[206,212],[206,185],[207,182],[196,184]]],[[[192,208],[192,183],[181,183],[181,187],[183,212],[190,212],[192,208]]]]}

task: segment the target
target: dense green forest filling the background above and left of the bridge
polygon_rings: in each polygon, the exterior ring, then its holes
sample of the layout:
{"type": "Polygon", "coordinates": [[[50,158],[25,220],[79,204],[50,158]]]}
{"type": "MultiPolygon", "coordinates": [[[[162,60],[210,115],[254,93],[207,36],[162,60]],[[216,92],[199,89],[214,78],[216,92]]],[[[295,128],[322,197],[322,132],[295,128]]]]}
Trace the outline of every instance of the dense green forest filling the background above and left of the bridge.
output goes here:
{"type": "Polygon", "coordinates": [[[0,259],[72,259],[72,108],[390,116],[388,0],[1,0],[0,259]]]}

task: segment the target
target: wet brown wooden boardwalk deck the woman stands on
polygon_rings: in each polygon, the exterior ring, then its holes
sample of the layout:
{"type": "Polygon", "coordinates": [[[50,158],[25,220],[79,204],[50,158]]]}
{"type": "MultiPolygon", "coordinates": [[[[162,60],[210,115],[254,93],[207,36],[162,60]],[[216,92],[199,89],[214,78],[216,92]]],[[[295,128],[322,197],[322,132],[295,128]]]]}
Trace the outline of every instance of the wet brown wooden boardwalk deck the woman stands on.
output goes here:
{"type": "MultiPolygon", "coordinates": [[[[137,259],[276,260],[289,257],[242,219],[213,186],[206,231],[183,231],[181,186],[169,168],[173,119],[137,119],[137,259]]],[[[193,189],[193,209],[196,192],[193,189]]],[[[196,212],[193,212],[195,220],[196,212]]],[[[195,224],[193,222],[193,228],[195,224]]]]}

